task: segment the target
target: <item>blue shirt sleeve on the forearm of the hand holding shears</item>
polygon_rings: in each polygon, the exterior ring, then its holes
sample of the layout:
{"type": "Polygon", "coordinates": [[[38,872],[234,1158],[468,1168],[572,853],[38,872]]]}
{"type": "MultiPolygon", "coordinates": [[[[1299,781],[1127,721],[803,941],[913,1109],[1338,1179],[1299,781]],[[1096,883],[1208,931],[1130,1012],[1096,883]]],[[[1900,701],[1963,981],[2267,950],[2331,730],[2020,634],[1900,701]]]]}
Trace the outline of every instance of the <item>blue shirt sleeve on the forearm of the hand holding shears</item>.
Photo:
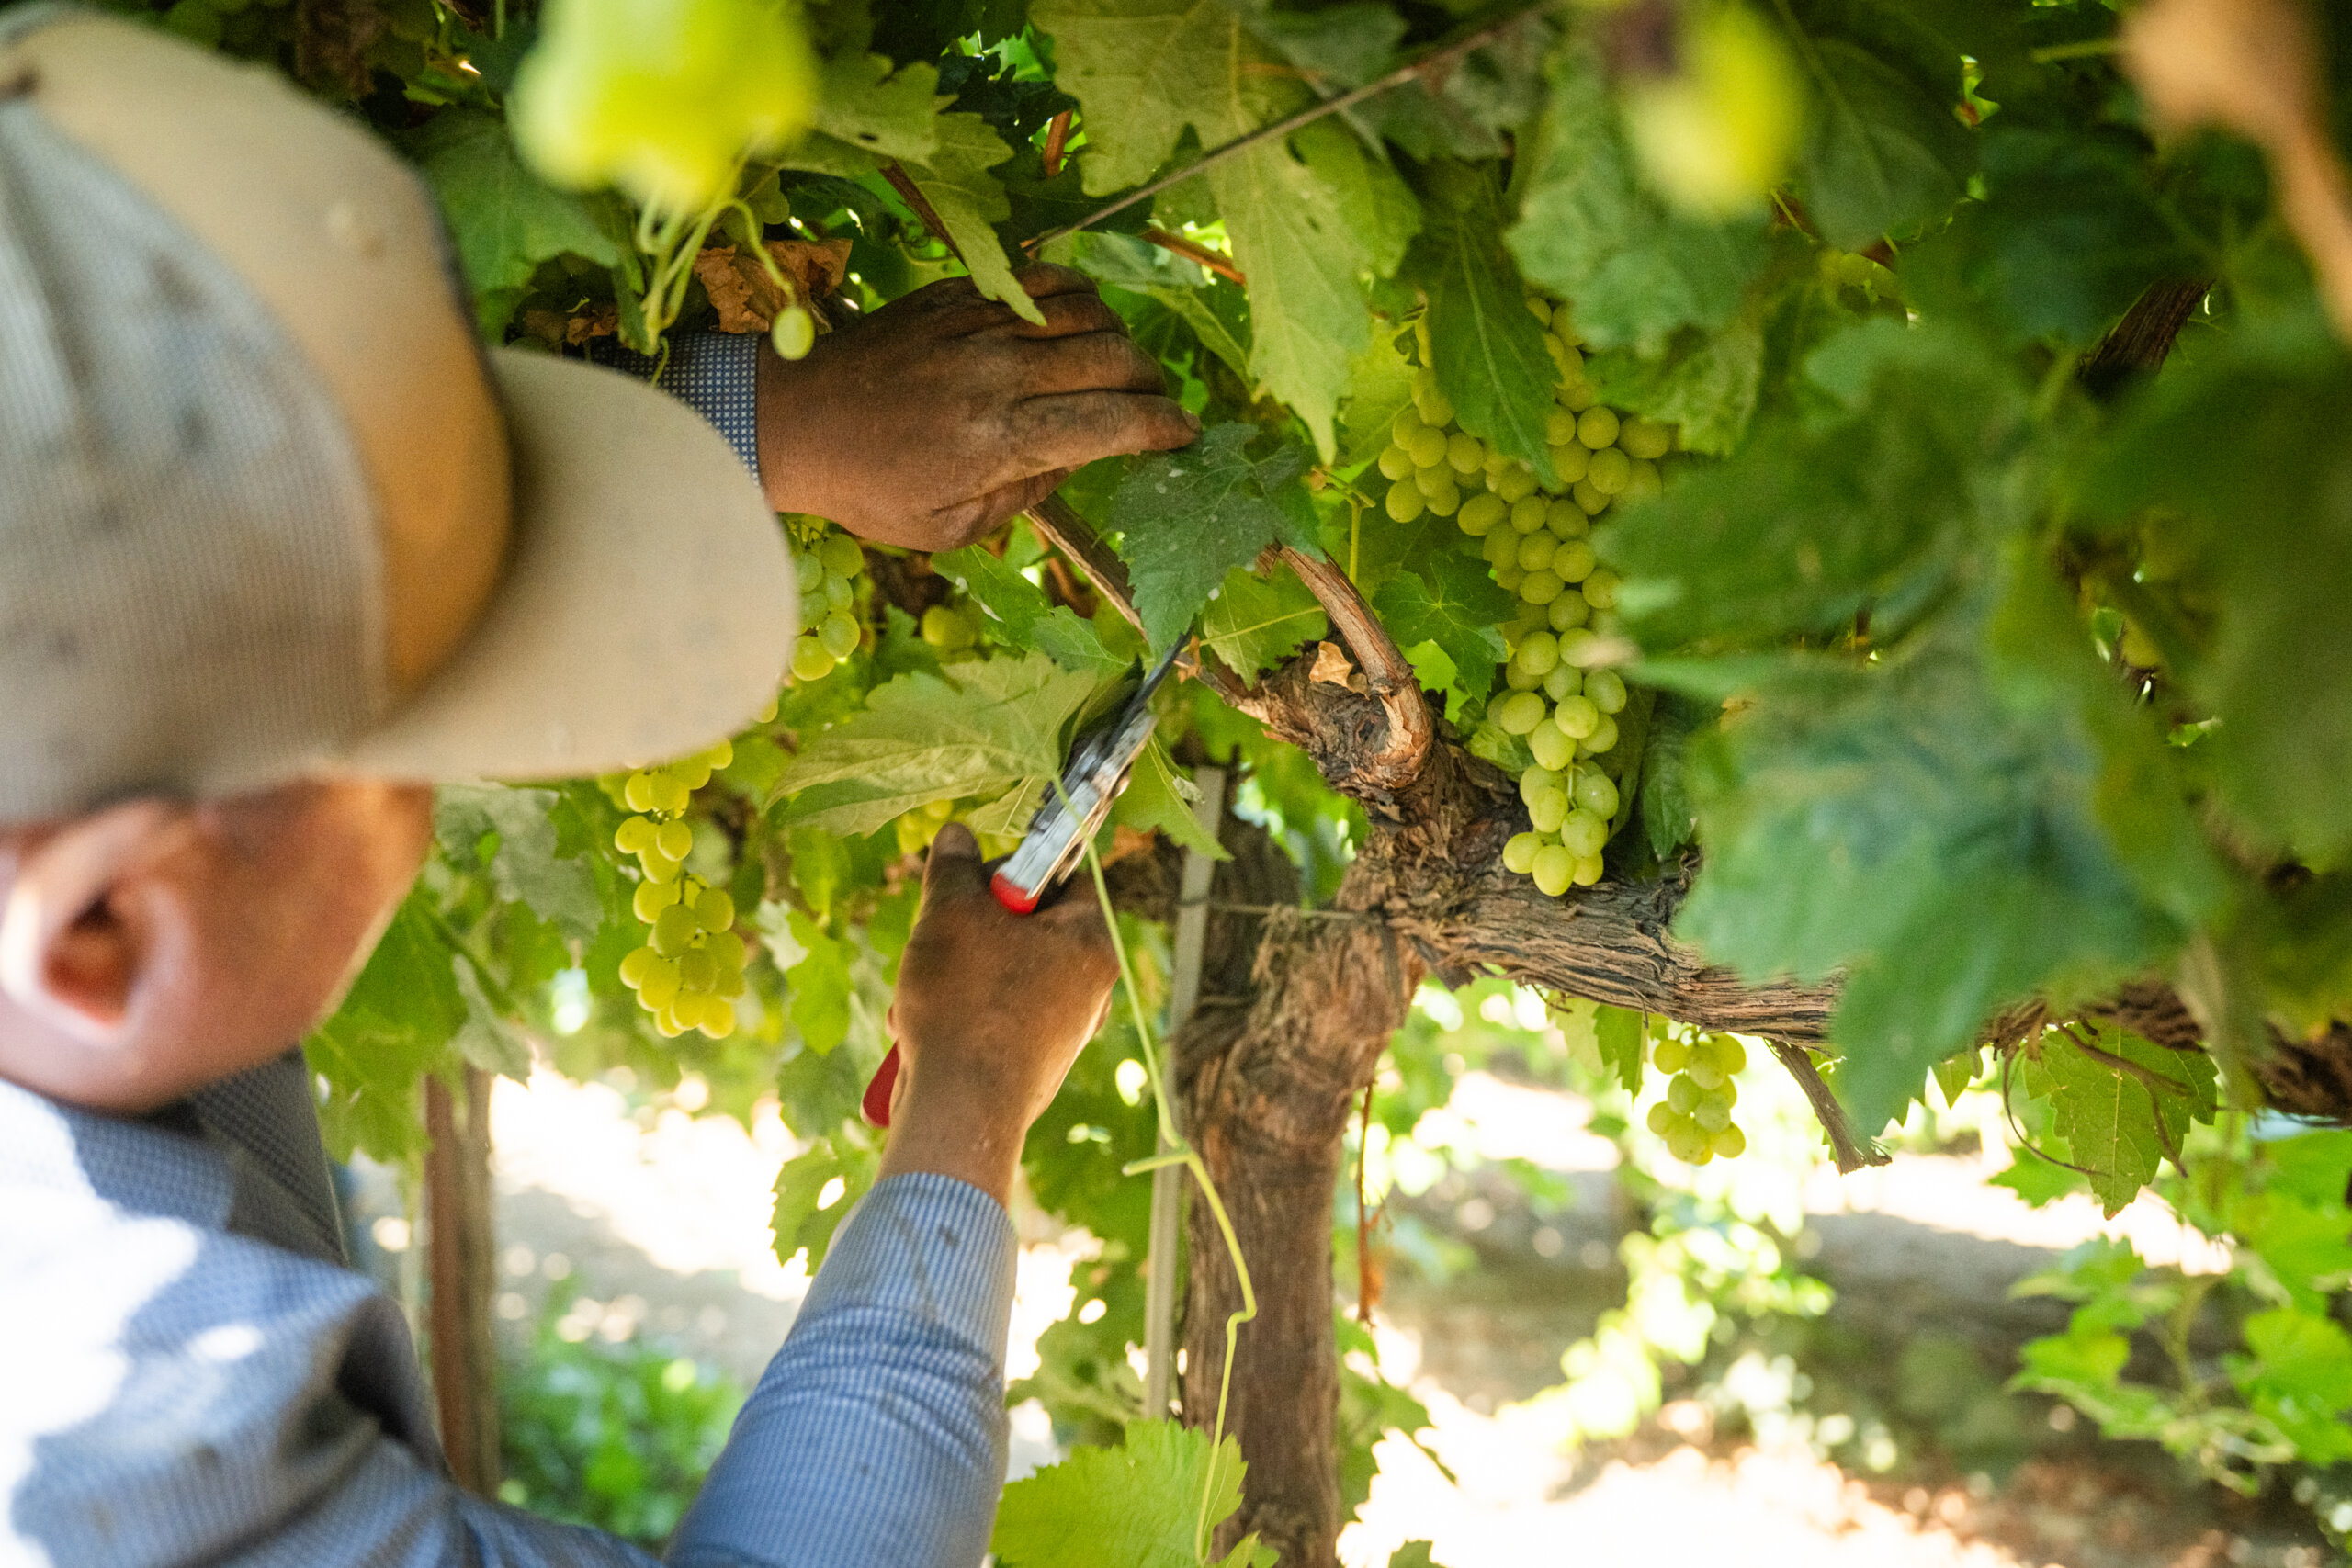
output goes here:
{"type": "Polygon", "coordinates": [[[837,1232],[670,1552],[675,1568],[974,1568],[1004,1486],[1016,1241],[950,1175],[837,1232]]]}

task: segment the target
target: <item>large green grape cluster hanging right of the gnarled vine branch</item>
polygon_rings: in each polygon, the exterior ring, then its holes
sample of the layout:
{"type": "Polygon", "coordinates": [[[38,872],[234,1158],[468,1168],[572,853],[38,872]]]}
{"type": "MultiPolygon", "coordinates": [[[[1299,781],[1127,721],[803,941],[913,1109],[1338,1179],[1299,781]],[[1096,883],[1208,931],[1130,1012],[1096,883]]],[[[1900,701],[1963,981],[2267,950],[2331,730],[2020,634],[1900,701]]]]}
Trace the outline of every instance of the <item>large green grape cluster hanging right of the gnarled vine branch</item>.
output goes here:
{"type": "Polygon", "coordinates": [[[1414,404],[1390,425],[1378,465],[1392,520],[1451,517],[1482,541],[1494,581],[1519,599],[1519,614],[1501,628],[1510,644],[1508,693],[1486,712],[1503,733],[1526,741],[1536,766],[1519,773],[1531,830],[1503,846],[1503,865],[1557,898],[1602,879],[1602,846],[1618,811],[1618,785],[1597,757],[1616,750],[1625,682],[1583,658],[1597,632],[1613,630],[1618,578],[1597,562],[1592,531],[1616,501],[1661,489],[1658,458],[1675,447],[1675,430],[1597,400],[1566,306],[1529,296],[1526,308],[1543,322],[1559,374],[1545,440],[1564,489],[1543,489],[1529,463],[1454,423],[1425,331],[1414,404]]]}

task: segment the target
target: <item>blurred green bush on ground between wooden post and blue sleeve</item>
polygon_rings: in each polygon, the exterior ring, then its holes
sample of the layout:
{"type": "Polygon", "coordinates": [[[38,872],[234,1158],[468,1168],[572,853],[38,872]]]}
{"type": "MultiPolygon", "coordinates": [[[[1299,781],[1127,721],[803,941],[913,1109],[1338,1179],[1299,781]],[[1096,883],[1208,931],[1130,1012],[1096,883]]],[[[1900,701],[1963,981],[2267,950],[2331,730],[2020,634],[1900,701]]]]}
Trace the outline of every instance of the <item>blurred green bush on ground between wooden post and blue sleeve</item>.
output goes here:
{"type": "Polygon", "coordinates": [[[499,1375],[499,1500],[659,1552],[703,1486],[743,1403],[708,1366],[644,1340],[560,1333],[560,1288],[499,1375]]]}

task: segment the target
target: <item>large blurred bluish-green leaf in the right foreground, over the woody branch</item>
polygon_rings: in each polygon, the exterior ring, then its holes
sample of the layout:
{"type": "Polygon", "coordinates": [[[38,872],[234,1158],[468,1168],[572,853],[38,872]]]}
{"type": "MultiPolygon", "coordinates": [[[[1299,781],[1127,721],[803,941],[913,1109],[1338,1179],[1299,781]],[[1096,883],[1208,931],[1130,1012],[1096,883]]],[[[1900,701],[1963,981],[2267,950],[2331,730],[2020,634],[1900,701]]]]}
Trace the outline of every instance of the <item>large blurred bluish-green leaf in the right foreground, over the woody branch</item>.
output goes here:
{"type": "Polygon", "coordinates": [[[2096,752],[2004,703],[1969,635],[1962,616],[1870,668],[1750,668],[1757,705],[1691,738],[1708,858],[1677,931],[1757,980],[1846,971],[1830,1037],[1865,1131],[1997,1006],[2183,938],[2098,827],[2096,752]]]}

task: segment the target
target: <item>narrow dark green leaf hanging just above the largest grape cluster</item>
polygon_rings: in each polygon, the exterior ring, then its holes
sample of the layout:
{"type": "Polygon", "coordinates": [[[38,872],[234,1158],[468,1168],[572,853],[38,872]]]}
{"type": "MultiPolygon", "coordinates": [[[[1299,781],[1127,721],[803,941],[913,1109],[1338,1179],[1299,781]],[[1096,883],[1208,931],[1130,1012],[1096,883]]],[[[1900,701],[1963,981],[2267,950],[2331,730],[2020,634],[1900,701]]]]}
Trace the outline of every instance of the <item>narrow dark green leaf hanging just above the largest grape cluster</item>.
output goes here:
{"type": "Polygon", "coordinates": [[[1430,301],[1437,390],[1463,430],[1557,487],[1543,421],[1559,371],[1503,247],[1503,193],[1494,176],[1463,165],[1435,165],[1428,183],[1435,200],[1409,277],[1430,301]]]}

